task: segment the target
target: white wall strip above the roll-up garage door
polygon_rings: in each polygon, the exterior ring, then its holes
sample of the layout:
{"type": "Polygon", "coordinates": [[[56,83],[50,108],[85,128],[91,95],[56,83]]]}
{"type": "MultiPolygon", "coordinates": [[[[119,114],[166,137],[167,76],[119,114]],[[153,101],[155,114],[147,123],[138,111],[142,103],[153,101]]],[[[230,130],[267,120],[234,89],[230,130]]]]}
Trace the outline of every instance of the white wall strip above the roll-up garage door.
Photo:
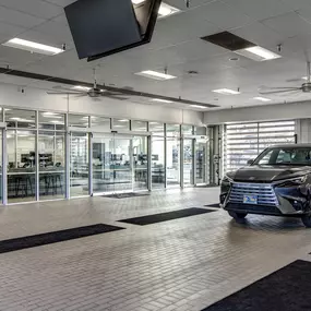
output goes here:
{"type": "Polygon", "coordinates": [[[215,110],[204,113],[204,123],[250,122],[268,120],[294,120],[311,118],[311,101],[277,104],[256,107],[215,110]]]}

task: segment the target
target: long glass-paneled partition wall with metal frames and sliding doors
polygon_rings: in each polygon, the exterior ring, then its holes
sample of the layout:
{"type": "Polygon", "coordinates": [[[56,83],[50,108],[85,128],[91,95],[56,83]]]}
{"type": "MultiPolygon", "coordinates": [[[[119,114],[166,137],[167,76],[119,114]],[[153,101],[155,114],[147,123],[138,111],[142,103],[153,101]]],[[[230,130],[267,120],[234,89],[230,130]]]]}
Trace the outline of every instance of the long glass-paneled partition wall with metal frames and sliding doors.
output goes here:
{"type": "MultiPolygon", "coordinates": [[[[2,122],[2,123],[1,123],[2,122]]],[[[5,108],[3,204],[207,184],[206,128],[5,108]]]]}

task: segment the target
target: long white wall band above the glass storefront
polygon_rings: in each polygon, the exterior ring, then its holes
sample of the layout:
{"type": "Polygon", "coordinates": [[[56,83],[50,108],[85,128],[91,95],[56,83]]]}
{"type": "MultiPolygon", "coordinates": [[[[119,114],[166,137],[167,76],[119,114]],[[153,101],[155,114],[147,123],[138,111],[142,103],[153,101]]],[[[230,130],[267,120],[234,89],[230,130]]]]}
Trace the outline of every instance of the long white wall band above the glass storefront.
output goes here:
{"type": "Polygon", "coordinates": [[[36,88],[26,88],[25,93],[21,93],[19,92],[19,87],[13,85],[0,85],[0,106],[63,112],[69,111],[72,113],[89,113],[168,123],[203,124],[203,112],[199,111],[133,104],[109,98],[105,98],[100,101],[94,101],[87,97],[69,97],[68,99],[67,95],[49,96],[45,91],[36,88]]]}

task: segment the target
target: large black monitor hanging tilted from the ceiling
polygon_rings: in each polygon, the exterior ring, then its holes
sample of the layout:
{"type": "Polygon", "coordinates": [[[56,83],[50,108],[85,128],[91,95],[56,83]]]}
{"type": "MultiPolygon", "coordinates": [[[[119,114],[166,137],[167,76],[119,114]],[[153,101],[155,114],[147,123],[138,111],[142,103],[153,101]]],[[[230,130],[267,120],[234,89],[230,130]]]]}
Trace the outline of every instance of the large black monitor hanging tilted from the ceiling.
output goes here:
{"type": "Polygon", "coordinates": [[[77,0],[64,8],[80,59],[92,61],[151,41],[162,0],[77,0]]]}

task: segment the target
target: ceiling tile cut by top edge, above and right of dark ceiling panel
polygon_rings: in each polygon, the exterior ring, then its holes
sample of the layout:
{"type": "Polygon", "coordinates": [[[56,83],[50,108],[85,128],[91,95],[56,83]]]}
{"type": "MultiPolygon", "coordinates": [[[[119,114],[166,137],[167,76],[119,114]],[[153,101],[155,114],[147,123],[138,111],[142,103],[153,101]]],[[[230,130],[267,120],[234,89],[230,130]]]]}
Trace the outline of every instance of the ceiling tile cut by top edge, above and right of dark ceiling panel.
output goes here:
{"type": "Polygon", "coordinates": [[[290,12],[292,9],[280,0],[225,0],[231,8],[239,9],[255,20],[264,20],[290,12]]]}

